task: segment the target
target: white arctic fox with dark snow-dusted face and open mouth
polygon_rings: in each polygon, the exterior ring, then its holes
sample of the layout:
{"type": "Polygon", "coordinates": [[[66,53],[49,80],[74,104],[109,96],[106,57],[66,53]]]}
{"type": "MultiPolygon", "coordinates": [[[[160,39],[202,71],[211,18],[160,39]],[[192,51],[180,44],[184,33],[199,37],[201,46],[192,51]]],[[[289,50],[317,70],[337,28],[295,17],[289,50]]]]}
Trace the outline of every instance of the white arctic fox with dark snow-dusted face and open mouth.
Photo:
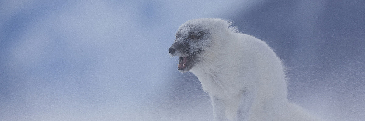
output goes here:
{"type": "Polygon", "coordinates": [[[169,48],[212,100],[214,121],[318,121],[287,100],[283,65],[270,47],[222,19],[189,20],[169,48]]]}

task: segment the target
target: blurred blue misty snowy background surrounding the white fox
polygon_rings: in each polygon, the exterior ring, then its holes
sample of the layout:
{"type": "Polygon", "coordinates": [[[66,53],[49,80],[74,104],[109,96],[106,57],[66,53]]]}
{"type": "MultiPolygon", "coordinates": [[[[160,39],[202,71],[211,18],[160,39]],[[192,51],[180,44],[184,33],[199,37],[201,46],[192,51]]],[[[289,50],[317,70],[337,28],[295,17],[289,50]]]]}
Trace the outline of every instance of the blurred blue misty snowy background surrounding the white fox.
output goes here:
{"type": "Polygon", "coordinates": [[[0,1],[0,120],[210,121],[209,96],[168,55],[190,19],[234,21],[288,68],[288,98],[365,119],[365,1],[0,1]]]}

